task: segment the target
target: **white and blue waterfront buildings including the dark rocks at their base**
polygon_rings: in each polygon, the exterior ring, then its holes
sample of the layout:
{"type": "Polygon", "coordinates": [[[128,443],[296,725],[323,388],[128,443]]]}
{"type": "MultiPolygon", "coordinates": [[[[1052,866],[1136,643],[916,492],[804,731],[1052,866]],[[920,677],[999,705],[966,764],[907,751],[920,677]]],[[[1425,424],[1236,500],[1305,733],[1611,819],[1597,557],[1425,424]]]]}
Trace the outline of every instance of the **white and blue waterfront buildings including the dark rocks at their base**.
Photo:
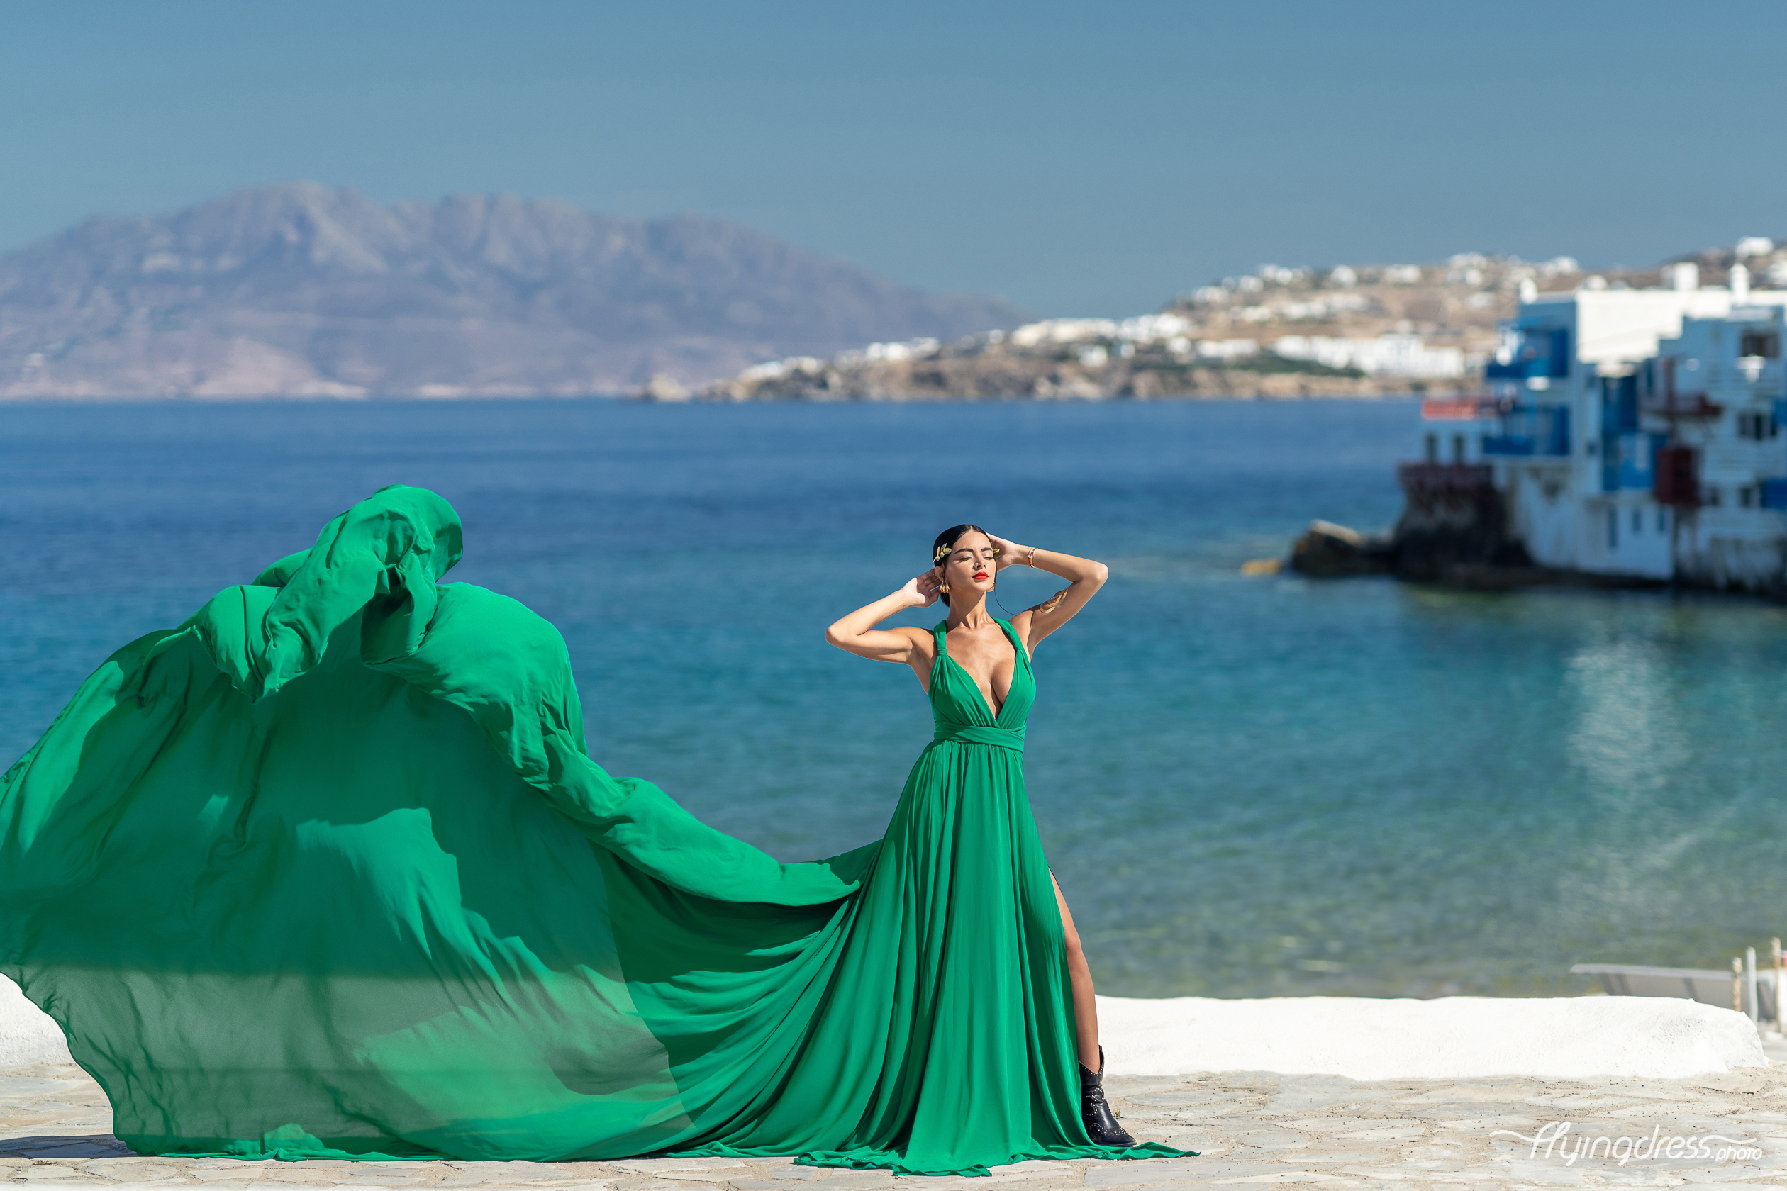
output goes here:
{"type": "Polygon", "coordinates": [[[1787,266],[1746,237],[1657,280],[1524,293],[1480,387],[1422,402],[1396,534],[1313,527],[1294,566],[1787,593],[1787,266]]]}

